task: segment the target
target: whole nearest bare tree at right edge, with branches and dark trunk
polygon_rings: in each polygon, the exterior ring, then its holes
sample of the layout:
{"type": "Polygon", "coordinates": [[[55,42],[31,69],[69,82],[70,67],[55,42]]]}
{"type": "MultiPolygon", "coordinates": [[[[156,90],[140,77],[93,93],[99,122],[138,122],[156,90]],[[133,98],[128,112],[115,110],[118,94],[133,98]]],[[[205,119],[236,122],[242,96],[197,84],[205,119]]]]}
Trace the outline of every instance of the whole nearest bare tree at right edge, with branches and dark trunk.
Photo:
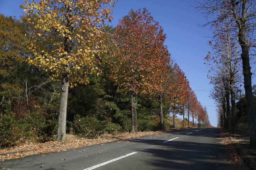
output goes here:
{"type": "MultiPolygon", "coordinates": [[[[208,0],[206,2],[197,2],[197,9],[204,10],[209,21],[206,25],[212,24],[215,21],[221,21],[229,26],[236,28],[234,35],[238,38],[241,47],[241,59],[244,76],[244,90],[246,95],[248,122],[250,131],[250,147],[256,148],[256,114],[252,94],[251,82],[251,66],[250,66],[250,51],[254,50],[255,40],[252,39],[255,32],[255,1],[254,0],[208,0]]],[[[222,32],[218,30],[217,34],[222,32]]]]}

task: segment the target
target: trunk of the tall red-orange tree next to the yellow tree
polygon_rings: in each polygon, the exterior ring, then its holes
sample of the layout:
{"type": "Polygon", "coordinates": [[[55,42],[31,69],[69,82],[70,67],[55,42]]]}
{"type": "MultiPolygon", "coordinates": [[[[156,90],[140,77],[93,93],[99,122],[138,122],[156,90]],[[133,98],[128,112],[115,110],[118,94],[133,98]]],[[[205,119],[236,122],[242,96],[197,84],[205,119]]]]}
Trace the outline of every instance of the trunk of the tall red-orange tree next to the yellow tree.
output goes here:
{"type": "Polygon", "coordinates": [[[132,127],[131,127],[131,133],[137,133],[138,132],[138,123],[137,123],[137,111],[136,111],[136,98],[135,98],[135,92],[130,90],[130,99],[131,99],[131,114],[132,114],[132,127]]]}

